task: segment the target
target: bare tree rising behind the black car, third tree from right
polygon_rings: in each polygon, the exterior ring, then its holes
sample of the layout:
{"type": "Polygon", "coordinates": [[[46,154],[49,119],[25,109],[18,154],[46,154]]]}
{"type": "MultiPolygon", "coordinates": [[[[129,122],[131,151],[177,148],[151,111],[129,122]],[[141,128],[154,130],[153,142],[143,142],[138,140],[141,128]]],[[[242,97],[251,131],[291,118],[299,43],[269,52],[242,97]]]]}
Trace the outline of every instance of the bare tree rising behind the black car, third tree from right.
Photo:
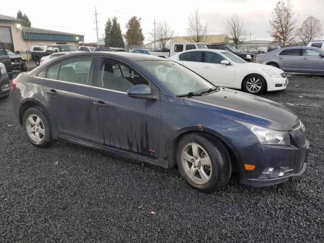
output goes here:
{"type": "Polygon", "coordinates": [[[228,39],[233,42],[235,48],[239,48],[250,35],[250,31],[246,27],[244,20],[237,14],[227,17],[224,26],[225,33],[228,34],[228,39]]]}

